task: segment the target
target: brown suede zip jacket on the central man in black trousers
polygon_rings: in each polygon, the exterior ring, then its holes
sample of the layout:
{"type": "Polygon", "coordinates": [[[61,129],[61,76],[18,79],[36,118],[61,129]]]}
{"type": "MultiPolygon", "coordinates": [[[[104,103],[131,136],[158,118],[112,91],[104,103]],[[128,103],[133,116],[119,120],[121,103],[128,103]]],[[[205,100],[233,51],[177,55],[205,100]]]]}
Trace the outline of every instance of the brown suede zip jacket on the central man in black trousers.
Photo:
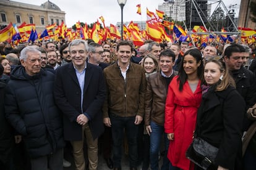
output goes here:
{"type": "Polygon", "coordinates": [[[103,118],[109,113],[121,117],[144,116],[146,78],[143,68],[130,62],[124,80],[117,62],[104,70],[106,98],[103,105],[103,118]]]}

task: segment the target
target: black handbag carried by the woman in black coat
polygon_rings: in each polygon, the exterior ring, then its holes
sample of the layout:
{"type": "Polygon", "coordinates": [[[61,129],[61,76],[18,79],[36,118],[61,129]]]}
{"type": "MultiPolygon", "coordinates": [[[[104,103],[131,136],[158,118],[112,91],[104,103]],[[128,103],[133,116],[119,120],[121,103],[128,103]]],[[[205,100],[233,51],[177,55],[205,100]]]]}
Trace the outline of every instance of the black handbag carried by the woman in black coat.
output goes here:
{"type": "MultiPolygon", "coordinates": [[[[200,137],[195,137],[186,152],[186,157],[202,169],[215,169],[218,148],[200,137]]],[[[218,167],[218,166],[217,166],[218,167]]]]}

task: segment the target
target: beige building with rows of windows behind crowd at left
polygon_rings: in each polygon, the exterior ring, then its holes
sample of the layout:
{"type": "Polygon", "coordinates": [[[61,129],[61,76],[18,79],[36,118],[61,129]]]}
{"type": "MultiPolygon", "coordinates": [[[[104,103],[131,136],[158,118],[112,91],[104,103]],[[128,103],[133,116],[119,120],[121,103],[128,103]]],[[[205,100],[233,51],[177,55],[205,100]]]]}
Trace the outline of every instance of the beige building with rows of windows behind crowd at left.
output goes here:
{"type": "Polygon", "coordinates": [[[46,1],[41,6],[25,4],[15,1],[0,1],[0,25],[8,25],[10,22],[17,26],[23,22],[26,24],[34,23],[36,31],[45,30],[45,26],[56,23],[60,25],[65,21],[65,12],[62,11],[56,4],[46,1]]]}

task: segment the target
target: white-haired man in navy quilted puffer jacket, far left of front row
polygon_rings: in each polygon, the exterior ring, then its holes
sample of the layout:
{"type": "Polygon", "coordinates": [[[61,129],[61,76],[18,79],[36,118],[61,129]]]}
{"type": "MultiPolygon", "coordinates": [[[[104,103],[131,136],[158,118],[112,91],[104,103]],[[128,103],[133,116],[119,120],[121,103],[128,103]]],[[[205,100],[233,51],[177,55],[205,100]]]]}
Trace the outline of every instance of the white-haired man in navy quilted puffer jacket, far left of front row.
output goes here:
{"type": "Polygon", "coordinates": [[[33,169],[62,169],[61,114],[54,103],[54,75],[41,69],[41,52],[25,47],[7,84],[6,118],[28,150],[33,169]]]}

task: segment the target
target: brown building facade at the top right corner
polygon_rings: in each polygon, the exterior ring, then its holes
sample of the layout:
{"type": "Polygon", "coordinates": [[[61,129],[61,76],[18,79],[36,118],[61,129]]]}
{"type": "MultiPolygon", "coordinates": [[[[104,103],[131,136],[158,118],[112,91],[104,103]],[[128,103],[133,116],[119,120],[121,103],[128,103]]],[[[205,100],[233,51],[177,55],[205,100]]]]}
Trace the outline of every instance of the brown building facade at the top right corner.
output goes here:
{"type": "Polygon", "coordinates": [[[256,2],[256,0],[243,0],[240,4],[238,26],[243,28],[256,29],[256,23],[250,19],[250,2],[256,2]]]}

